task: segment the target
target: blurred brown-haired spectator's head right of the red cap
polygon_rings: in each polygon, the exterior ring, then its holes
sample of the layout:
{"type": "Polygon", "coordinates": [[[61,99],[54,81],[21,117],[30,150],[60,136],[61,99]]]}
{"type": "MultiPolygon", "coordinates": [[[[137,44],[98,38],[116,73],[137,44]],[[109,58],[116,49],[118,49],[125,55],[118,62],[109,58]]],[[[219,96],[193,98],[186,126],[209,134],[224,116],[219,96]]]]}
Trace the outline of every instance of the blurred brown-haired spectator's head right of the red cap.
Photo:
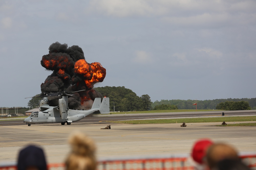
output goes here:
{"type": "Polygon", "coordinates": [[[240,161],[237,151],[225,143],[215,143],[207,150],[206,162],[209,169],[216,169],[217,164],[224,159],[240,161]]]}

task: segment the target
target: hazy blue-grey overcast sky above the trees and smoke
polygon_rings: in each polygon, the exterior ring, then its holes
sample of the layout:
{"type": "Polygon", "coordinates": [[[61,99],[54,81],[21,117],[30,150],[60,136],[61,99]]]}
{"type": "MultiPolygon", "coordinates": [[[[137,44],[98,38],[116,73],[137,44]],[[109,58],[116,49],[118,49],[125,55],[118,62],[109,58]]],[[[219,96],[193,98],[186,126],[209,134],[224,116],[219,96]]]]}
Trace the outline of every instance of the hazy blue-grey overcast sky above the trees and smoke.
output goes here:
{"type": "Polygon", "coordinates": [[[0,107],[27,107],[54,42],[151,100],[256,97],[255,0],[0,0],[0,107]]]}

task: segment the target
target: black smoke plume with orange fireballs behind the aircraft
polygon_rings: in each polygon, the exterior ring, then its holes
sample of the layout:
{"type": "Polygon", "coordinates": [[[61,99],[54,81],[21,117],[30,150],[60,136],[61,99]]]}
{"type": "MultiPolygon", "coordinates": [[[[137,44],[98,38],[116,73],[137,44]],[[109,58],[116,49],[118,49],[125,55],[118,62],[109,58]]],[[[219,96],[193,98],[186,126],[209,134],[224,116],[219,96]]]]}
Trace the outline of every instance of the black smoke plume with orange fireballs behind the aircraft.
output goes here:
{"type": "MultiPolygon", "coordinates": [[[[104,80],[106,69],[99,62],[87,63],[79,46],[53,43],[49,47],[49,54],[42,56],[41,65],[53,71],[41,84],[42,93],[86,90],[73,93],[74,96],[68,98],[70,109],[88,110],[96,97],[102,98],[92,88],[95,83],[104,80]]],[[[57,106],[59,98],[48,97],[49,105],[57,106]]]]}

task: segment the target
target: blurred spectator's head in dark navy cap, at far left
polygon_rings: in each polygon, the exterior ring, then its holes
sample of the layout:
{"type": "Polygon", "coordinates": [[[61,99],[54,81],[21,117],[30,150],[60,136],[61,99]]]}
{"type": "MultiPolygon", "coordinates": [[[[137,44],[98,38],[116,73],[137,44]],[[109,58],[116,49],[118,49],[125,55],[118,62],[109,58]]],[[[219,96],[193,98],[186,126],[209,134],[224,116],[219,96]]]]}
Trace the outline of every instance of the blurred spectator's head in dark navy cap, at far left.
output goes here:
{"type": "Polygon", "coordinates": [[[36,146],[20,150],[17,170],[47,170],[44,151],[36,146]]]}

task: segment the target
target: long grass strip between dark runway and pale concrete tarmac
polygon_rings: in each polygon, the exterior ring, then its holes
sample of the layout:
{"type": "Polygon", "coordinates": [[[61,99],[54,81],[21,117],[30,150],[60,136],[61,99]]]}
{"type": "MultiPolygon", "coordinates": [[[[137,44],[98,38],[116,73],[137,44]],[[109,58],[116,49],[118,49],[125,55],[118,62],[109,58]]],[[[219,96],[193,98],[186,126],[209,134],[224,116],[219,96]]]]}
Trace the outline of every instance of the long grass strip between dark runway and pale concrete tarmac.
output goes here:
{"type": "MultiPolygon", "coordinates": [[[[157,116],[156,116],[157,117],[157,116]]],[[[157,124],[157,123],[206,123],[206,122],[247,122],[255,121],[256,116],[237,116],[237,117],[198,117],[182,119],[154,119],[154,120],[129,120],[129,121],[106,121],[110,123],[128,123],[128,124],[157,124]]]]}

